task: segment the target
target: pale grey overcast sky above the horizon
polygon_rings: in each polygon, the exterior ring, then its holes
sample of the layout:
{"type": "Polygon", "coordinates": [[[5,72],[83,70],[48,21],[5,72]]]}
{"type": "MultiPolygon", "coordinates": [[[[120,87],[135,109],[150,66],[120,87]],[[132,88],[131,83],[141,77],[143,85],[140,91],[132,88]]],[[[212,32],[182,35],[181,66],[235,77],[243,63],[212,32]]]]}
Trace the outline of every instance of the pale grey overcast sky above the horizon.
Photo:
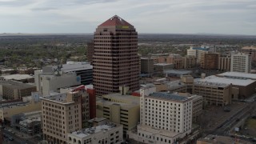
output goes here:
{"type": "Polygon", "coordinates": [[[115,14],[139,33],[256,35],[256,0],[0,0],[0,33],[93,33],[115,14]]]}

